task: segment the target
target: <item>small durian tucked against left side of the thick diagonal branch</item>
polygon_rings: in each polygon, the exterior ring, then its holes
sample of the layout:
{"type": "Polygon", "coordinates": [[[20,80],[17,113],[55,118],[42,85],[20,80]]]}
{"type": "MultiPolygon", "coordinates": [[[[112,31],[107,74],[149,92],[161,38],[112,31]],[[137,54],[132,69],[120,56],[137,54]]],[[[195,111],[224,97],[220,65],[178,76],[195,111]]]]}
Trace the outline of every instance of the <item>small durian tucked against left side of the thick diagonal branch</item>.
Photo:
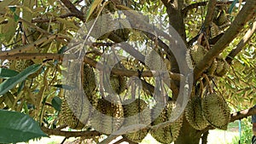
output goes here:
{"type": "Polygon", "coordinates": [[[197,65],[204,58],[204,55],[206,54],[207,54],[207,49],[205,49],[200,44],[195,44],[190,49],[190,55],[195,65],[197,65]]]}

